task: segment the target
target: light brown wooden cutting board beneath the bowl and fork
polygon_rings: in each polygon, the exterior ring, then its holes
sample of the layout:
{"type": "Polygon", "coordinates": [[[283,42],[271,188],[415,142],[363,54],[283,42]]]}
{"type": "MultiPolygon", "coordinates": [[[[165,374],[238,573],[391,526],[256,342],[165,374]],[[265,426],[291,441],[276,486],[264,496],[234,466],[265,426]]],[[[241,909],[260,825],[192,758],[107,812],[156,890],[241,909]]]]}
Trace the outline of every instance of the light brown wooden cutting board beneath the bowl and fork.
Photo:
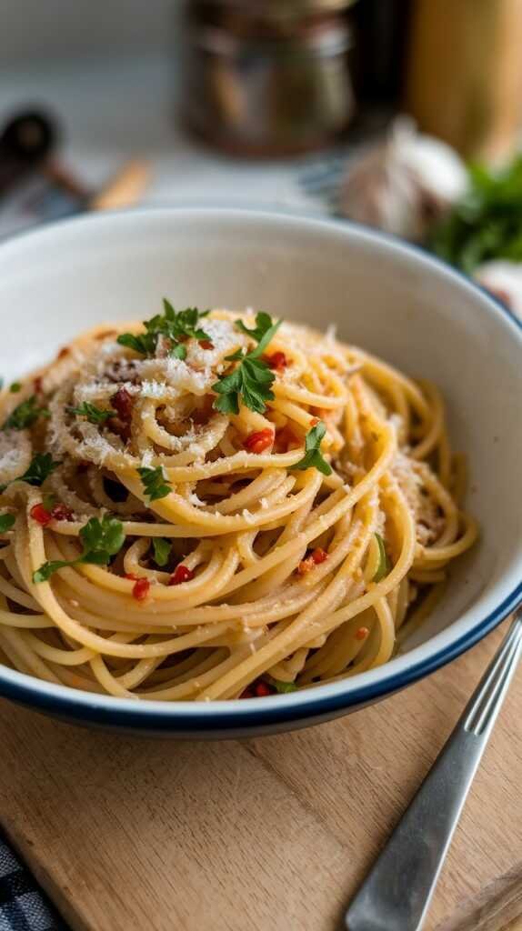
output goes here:
{"type": "MultiPolygon", "coordinates": [[[[242,742],[89,732],[0,701],[0,822],[74,931],[333,931],[502,630],[381,705],[242,742]]],[[[426,931],[522,912],[521,708],[522,670],[426,931]]]]}

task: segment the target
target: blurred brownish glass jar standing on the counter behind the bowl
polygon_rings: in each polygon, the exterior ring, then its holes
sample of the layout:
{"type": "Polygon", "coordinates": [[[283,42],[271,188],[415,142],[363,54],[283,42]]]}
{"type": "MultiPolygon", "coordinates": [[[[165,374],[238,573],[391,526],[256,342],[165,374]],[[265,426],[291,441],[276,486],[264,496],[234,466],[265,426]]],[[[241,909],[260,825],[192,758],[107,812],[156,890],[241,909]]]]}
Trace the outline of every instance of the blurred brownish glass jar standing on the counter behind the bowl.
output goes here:
{"type": "Polygon", "coordinates": [[[236,155],[291,155],[339,140],[355,115],[353,3],[187,4],[185,122],[236,155]]]}

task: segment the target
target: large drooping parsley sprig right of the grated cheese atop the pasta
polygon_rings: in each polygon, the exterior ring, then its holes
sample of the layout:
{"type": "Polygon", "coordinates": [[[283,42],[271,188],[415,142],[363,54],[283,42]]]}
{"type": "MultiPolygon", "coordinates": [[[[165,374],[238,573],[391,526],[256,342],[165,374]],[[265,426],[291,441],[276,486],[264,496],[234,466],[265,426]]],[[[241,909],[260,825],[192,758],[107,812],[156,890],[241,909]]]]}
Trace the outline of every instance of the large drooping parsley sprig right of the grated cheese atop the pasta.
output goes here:
{"type": "Polygon", "coordinates": [[[250,352],[237,349],[232,356],[226,357],[227,362],[239,362],[239,365],[230,375],[225,375],[212,385],[212,391],[220,395],[214,401],[216,411],[239,413],[241,400],[250,411],[264,413],[266,401],[274,400],[274,394],[270,390],[274,384],[274,372],[260,357],[281,322],[278,320],[277,323],[273,323],[268,314],[257,314],[256,328],[248,330],[241,320],[236,320],[237,329],[258,340],[258,344],[250,352]]]}

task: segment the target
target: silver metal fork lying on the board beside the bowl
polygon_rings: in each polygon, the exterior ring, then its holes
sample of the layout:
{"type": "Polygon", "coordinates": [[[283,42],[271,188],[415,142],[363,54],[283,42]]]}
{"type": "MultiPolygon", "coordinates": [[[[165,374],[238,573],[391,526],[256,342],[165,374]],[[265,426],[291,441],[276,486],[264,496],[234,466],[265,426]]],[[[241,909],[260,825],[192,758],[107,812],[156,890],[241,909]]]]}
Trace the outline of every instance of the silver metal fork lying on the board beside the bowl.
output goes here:
{"type": "Polygon", "coordinates": [[[522,609],[345,915],[349,931],[421,931],[522,649],[522,609]]]}

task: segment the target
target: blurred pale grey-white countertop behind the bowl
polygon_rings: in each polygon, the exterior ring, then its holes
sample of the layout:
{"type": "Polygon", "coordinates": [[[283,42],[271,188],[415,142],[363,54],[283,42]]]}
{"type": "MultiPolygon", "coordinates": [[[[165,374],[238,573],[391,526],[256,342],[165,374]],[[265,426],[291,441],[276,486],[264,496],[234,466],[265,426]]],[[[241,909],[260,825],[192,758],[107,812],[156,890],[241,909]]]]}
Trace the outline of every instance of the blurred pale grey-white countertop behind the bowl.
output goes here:
{"type": "Polygon", "coordinates": [[[54,110],[64,128],[63,161],[94,188],[139,155],[153,170],[148,205],[328,212],[305,193],[303,176],[338,170],[339,153],[250,162],[198,145],[177,125],[174,69],[160,56],[38,63],[0,76],[0,123],[28,105],[54,110]]]}

